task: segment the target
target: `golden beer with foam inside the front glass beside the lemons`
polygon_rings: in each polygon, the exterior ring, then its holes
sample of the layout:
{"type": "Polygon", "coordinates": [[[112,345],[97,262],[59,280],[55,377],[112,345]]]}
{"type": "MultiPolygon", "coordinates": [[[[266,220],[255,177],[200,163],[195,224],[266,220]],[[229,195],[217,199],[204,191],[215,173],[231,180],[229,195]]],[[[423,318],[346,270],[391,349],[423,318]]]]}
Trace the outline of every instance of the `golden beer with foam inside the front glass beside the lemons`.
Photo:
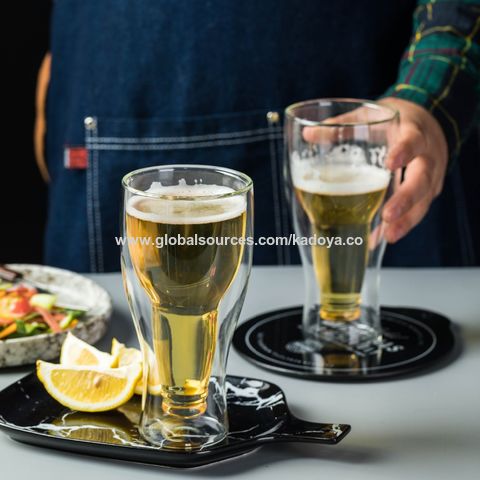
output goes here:
{"type": "Polygon", "coordinates": [[[216,185],[180,184],[151,191],[162,198],[129,200],[126,231],[130,239],[143,239],[130,242],[129,250],[152,304],[159,393],[165,411],[182,408],[202,413],[215,353],[218,306],[243,254],[243,246],[229,240],[245,236],[245,199],[200,198],[232,191],[216,185]],[[156,238],[180,237],[196,239],[197,244],[155,245],[156,238]],[[199,244],[200,238],[210,239],[209,243],[199,244]]]}

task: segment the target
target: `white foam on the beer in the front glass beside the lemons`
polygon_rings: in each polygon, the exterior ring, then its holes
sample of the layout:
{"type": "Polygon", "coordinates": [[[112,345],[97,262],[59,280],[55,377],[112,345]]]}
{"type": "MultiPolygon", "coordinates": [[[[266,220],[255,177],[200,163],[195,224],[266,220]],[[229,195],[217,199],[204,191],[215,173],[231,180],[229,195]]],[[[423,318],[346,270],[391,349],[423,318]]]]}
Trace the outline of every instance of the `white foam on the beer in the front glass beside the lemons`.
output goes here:
{"type": "Polygon", "coordinates": [[[188,185],[180,179],[178,185],[162,185],[153,182],[146,193],[169,196],[172,198],[154,198],[135,195],[127,204],[127,213],[132,217],[153,223],[200,224],[214,223],[238,217],[246,209],[243,195],[226,198],[208,197],[233,193],[235,190],[223,185],[195,183],[188,185]],[[175,199],[174,197],[184,197],[175,199]],[[189,200],[188,197],[195,197],[189,200]],[[198,199],[197,197],[206,197],[198,199]]]}

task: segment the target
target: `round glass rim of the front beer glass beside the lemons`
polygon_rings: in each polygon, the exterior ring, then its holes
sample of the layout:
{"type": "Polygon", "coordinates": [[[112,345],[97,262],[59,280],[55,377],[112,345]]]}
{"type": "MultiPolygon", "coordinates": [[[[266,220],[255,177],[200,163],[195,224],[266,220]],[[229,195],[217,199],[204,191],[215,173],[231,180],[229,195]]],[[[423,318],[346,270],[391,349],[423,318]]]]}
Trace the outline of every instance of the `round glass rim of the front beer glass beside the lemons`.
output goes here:
{"type": "Polygon", "coordinates": [[[157,165],[154,167],[144,167],[144,168],[139,168],[137,170],[133,170],[123,176],[122,186],[128,192],[133,193],[135,195],[142,196],[142,197],[158,198],[163,200],[189,200],[189,201],[195,200],[196,201],[196,200],[212,200],[212,199],[216,200],[216,199],[229,198],[229,197],[235,197],[237,195],[242,195],[244,193],[249,192],[252,189],[253,180],[245,173],[239,172],[238,170],[234,170],[233,168],[219,167],[215,165],[179,163],[179,164],[169,164],[169,165],[157,165]],[[218,170],[219,173],[225,173],[231,177],[236,177],[244,181],[245,185],[239,188],[238,190],[234,190],[233,192],[221,193],[217,195],[171,195],[171,194],[163,195],[163,194],[158,194],[153,192],[145,192],[143,190],[139,190],[138,188],[134,188],[128,184],[129,180],[131,180],[133,177],[140,175],[142,173],[161,171],[161,170],[175,170],[175,169],[210,170],[210,171],[218,170]]]}

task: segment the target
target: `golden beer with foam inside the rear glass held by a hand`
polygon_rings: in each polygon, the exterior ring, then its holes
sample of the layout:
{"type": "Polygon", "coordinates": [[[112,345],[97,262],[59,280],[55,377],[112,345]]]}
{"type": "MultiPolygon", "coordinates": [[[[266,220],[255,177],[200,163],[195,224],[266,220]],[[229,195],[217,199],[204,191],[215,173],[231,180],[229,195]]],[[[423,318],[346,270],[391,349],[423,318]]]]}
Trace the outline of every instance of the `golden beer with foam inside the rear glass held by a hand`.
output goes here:
{"type": "Polygon", "coordinates": [[[312,246],[321,289],[320,316],[351,321],[360,316],[360,292],[368,261],[370,226],[385,197],[390,175],[363,165],[328,165],[294,177],[295,194],[318,238],[340,239],[312,246]],[[355,243],[347,245],[347,239],[355,243]],[[361,241],[360,241],[361,239],[361,241]]]}

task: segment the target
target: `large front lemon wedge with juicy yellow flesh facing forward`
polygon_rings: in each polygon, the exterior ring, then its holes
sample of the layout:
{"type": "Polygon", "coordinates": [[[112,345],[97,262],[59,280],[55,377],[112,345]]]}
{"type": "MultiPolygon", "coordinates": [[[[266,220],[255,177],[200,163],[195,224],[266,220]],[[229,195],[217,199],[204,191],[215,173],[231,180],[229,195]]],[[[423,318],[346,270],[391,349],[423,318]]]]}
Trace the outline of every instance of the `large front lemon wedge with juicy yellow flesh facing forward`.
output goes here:
{"type": "Polygon", "coordinates": [[[37,362],[37,376],[57,402],[80,412],[104,412],[132,398],[142,373],[138,363],[119,368],[37,362]]]}

